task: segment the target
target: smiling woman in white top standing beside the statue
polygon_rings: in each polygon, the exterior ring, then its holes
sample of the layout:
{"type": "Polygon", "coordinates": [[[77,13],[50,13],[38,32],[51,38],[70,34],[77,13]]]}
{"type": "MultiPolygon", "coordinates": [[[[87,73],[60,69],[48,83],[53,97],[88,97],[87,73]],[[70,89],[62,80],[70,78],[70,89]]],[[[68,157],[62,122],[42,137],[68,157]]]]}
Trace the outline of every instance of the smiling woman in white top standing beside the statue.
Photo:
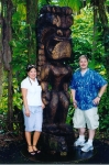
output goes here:
{"type": "Polygon", "coordinates": [[[21,82],[25,139],[28,152],[31,155],[35,155],[35,153],[41,152],[37,150],[36,145],[42,131],[44,103],[41,97],[42,89],[36,79],[36,67],[34,65],[29,65],[26,72],[28,77],[21,82]],[[31,132],[33,131],[33,139],[31,139],[31,132]]]}

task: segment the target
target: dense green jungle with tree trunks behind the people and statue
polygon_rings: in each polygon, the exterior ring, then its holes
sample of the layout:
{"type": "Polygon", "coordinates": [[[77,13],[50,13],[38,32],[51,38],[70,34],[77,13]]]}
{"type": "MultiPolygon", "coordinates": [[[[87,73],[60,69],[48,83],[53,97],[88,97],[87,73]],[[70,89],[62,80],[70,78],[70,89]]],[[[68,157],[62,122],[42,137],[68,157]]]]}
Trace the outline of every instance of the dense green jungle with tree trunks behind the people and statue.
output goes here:
{"type": "MultiPolygon", "coordinates": [[[[0,0],[0,133],[22,133],[21,80],[28,64],[36,64],[36,26],[40,9],[45,6],[70,7],[73,54],[69,65],[78,68],[86,54],[89,67],[109,81],[109,0],[0,0]]],[[[73,124],[70,99],[66,123],[73,124]]],[[[98,131],[109,131],[109,87],[99,105],[98,131]]]]}

